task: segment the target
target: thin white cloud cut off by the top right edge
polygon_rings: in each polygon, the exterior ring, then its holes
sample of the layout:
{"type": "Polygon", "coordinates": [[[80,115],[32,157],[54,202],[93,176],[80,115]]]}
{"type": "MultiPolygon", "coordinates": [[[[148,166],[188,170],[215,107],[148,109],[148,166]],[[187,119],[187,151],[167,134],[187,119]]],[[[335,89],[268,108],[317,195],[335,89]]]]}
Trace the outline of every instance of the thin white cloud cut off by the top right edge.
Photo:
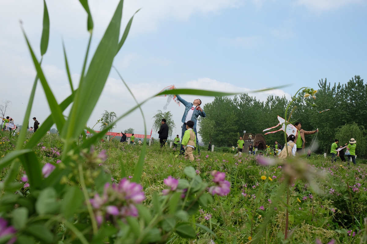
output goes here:
{"type": "Polygon", "coordinates": [[[312,10],[333,10],[348,4],[363,3],[363,0],[297,0],[298,5],[304,5],[312,10]]]}

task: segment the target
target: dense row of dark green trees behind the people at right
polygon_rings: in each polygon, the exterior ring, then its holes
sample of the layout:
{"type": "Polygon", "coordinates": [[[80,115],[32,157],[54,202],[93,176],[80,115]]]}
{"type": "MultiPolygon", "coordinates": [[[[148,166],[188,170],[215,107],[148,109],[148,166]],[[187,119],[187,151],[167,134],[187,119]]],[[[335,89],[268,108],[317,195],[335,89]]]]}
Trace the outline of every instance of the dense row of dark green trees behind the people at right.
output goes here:
{"type": "MultiPolygon", "coordinates": [[[[313,106],[302,99],[303,94],[298,95],[290,122],[301,122],[306,131],[319,128],[316,153],[329,153],[334,139],[339,139],[339,145],[342,145],[355,138],[357,155],[366,157],[367,84],[356,75],[344,84],[331,85],[327,79],[321,79],[318,86],[313,106]],[[321,112],[323,110],[327,111],[321,112]]],[[[284,118],[289,102],[285,96],[273,95],[266,101],[259,101],[246,93],[233,98],[215,97],[213,102],[204,105],[207,116],[199,118],[198,133],[204,143],[211,141],[217,146],[235,146],[243,130],[264,134],[263,129],[278,124],[277,116],[284,118]]],[[[313,136],[315,134],[306,136],[308,145],[313,136]]],[[[264,137],[268,145],[275,140],[284,143],[282,132],[264,137]]]]}

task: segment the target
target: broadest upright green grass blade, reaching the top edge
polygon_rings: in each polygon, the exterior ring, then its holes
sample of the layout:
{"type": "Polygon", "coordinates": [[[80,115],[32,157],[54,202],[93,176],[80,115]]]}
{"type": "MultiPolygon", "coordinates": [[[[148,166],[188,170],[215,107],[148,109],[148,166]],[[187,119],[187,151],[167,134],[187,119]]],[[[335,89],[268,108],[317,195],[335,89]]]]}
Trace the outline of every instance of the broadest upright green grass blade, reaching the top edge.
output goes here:
{"type": "Polygon", "coordinates": [[[72,110],[62,137],[66,139],[66,151],[72,138],[77,138],[87,123],[99,96],[105,86],[113,59],[116,55],[119,31],[122,18],[123,1],[120,0],[111,22],[109,23],[101,42],[99,43],[94,56],[92,57],[86,76],[79,85],[72,110]]]}

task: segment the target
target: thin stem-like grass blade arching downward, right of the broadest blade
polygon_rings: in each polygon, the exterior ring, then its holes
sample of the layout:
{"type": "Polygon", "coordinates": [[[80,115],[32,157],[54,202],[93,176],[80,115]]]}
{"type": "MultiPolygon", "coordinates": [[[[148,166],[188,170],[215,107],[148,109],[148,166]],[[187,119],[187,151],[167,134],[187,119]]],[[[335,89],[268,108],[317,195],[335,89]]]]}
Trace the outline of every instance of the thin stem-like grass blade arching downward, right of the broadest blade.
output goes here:
{"type": "MultiPolygon", "coordinates": [[[[124,79],[122,78],[122,76],[120,75],[119,71],[115,67],[113,67],[113,68],[116,70],[116,72],[119,75],[120,79],[122,80],[122,82],[126,86],[127,90],[130,92],[132,98],[134,98],[135,102],[139,106],[139,110],[140,110],[141,115],[143,117],[144,135],[146,135],[146,123],[145,123],[145,117],[144,117],[143,110],[141,109],[141,106],[139,105],[138,100],[135,98],[134,94],[132,93],[132,91],[130,90],[130,88],[128,87],[128,85],[126,84],[126,82],[124,81],[124,79]]],[[[137,164],[137,166],[135,167],[135,170],[134,170],[134,176],[132,177],[132,181],[134,181],[136,183],[139,183],[140,182],[140,177],[141,177],[141,174],[143,172],[143,165],[144,165],[145,154],[146,154],[146,136],[144,136],[143,147],[142,147],[141,152],[140,152],[140,155],[139,155],[138,164],[137,164]]]]}

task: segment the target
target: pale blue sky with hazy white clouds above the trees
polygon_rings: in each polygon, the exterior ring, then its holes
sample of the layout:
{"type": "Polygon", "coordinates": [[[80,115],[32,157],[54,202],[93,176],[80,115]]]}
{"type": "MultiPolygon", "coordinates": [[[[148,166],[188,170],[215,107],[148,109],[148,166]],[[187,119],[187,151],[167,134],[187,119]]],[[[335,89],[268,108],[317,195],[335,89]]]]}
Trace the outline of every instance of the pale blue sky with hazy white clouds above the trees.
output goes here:
{"type": "MultiPolygon", "coordinates": [[[[58,101],[70,93],[61,40],[77,86],[86,48],[86,14],[79,1],[47,1],[51,35],[43,68],[58,101]]],[[[107,26],[116,0],[90,1],[95,29],[92,51],[107,26]]],[[[33,48],[39,53],[43,3],[1,0],[0,61],[2,100],[11,100],[10,115],[21,123],[34,79],[29,52],[19,28],[22,19],[33,48]],[[14,91],[16,87],[16,92],[14,91]],[[11,91],[11,92],[9,92],[11,91]]],[[[124,3],[123,26],[138,8],[131,33],[114,61],[139,100],[163,87],[193,87],[241,91],[290,84],[269,94],[294,93],[300,86],[317,88],[321,78],[347,82],[354,75],[367,78],[365,0],[136,0],[124,3]]],[[[195,97],[185,96],[188,100],[195,97]]],[[[203,102],[212,101],[205,97],[203,102]]],[[[166,99],[154,98],[144,106],[150,118],[166,99]]],[[[130,95],[111,71],[105,90],[88,122],[93,125],[103,110],[118,115],[134,106],[130,95]]],[[[183,107],[168,106],[180,131],[183,107]]],[[[32,116],[41,122],[49,114],[40,86],[32,116]]],[[[65,113],[67,115],[67,113],[65,113]]],[[[31,120],[30,120],[31,121],[31,120]]],[[[143,133],[139,113],[132,113],[114,131],[133,127],[143,133]]]]}

